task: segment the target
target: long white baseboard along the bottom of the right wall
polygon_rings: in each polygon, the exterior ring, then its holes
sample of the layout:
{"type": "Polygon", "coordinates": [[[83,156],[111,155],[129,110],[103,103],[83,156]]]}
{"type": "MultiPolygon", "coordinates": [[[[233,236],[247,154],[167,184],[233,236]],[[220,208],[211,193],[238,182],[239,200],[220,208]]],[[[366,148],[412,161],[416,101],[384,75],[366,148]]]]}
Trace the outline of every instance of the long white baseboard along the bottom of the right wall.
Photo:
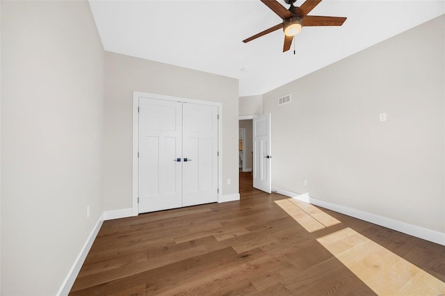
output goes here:
{"type": "Polygon", "coordinates": [[[288,190],[273,188],[273,192],[277,192],[280,195],[285,195],[287,197],[292,197],[302,202],[307,202],[309,204],[314,204],[316,206],[321,206],[344,215],[355,217],[360,220],[371,222],[373,224],[378,224],[382,227],[387,227],[389,229],[394,229],[400,231],[410,236],[415,236],[416,238],[422,238],[423,240],[429,240],[430,242],[435,242],[439,245],[445,245],[445,233],[439,231],[434,231],[431,229],[426,229],[412,224],[407,224],[398,220],[393,220],[387,217],[382,217],[379,215],[371,214],[364,211],[356,210],[355,208],[348,208],[346,206],[339,206],[338,204],[332,204],[330,202],[325,202],[321,199],[316,199],[310,197],[307,194],[299,195],[296,192],[291,192],[288,190]]]}

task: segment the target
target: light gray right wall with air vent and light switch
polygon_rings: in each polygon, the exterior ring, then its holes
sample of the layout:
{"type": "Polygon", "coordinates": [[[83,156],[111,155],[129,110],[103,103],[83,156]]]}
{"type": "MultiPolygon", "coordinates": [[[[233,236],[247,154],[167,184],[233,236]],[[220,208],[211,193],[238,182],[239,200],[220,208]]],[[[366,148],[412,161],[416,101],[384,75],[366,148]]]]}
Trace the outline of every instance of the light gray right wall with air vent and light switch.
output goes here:
{"type": "Polygon", "coordinates": [[[273,186],[445,233],[444,30],[442,15],[264,94],[273,186]]]}

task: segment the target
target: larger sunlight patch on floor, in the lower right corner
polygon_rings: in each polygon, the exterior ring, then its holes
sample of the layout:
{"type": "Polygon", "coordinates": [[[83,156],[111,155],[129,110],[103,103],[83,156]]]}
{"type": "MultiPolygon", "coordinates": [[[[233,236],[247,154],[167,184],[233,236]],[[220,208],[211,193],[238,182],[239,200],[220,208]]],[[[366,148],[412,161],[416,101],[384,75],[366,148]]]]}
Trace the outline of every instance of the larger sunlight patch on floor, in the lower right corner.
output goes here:
{"type": "Polygon", "coordinates": [[[378,295],[445,295],[445,283],[349,227],[317,238],[378,295]]]}

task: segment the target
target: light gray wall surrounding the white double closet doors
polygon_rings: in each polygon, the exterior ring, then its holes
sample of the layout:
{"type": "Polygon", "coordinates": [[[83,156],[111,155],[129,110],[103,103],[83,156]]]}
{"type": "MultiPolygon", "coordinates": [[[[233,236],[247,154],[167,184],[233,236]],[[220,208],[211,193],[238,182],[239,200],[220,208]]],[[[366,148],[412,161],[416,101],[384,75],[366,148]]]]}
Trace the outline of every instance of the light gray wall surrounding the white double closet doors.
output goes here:
{"type": "Polygon", "coordinates": [[[221,102],[223,195],[238,194],[237,79],[106,52],[105,90],[106,211],[132,206],[133,91],[221,102]]]}

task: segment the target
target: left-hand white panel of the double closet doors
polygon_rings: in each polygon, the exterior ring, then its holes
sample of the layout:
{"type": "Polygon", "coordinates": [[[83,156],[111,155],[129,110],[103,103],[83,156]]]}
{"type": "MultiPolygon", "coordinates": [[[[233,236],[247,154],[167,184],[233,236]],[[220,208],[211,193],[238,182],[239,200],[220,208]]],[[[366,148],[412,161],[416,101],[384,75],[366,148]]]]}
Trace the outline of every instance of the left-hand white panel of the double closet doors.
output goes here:
{"type": "Polygon", "coordinates": [[[139,99],[139,213],[182,206],[182,104],[139,99]]]}

